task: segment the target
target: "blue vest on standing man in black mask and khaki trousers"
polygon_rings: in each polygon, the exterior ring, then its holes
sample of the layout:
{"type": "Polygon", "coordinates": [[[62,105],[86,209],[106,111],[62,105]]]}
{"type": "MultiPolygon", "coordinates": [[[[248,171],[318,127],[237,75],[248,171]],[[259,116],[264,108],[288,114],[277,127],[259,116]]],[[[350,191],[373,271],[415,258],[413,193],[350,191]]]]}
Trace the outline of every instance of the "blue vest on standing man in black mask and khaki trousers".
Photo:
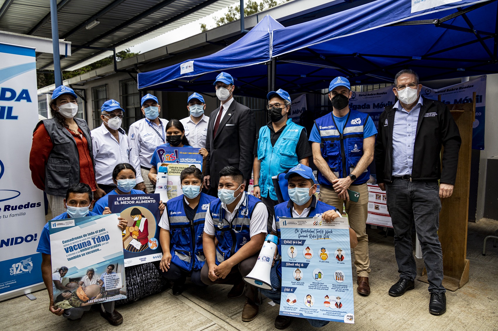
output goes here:
{"type": "MultiPolygon", "coordinates": [[[[338,178],[346,178],[355,169],[363,156],[363,128],[367,124],[369,114],[350,110],[347,115],[343,134],[339,133],[334,116],[329,113],[315,120],[320,132],[320,150],[330,169],[338,178]]],[[[358,176],[356,184],[364,184],[370,178],[370,166],[358,176]]],[[[332,186],[332,183],[318,171],[318,183],[332,186]]]]}

